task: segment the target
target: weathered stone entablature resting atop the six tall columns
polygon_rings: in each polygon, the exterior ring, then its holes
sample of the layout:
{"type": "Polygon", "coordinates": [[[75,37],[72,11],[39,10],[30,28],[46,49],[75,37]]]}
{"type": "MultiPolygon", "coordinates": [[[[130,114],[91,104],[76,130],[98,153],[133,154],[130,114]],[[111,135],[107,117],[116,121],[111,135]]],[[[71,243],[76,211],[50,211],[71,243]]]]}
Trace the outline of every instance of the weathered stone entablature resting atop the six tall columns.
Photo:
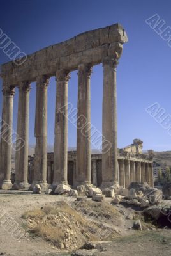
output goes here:
{"type": "Polygon", "coordinates": [[[1,77],[16,86],[20,81],[36,81],[38,76],[54,76],[56,70],[77,70],[80,63],[97,65],[107,56],[116,60],[127,41],[120,24],[87,31],[28,55],[22,65],[15,65],[13,61],[2,65],[1,77]]]}

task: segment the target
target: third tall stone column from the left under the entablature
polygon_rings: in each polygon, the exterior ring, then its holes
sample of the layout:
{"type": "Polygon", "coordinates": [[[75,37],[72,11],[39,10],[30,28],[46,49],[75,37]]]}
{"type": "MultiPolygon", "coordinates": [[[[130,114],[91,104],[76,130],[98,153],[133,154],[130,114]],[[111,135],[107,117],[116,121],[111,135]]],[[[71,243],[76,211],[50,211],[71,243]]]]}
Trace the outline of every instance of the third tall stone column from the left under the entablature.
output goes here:
{"type": "Polygon", "coordinates": [[[40,76],[36,81],[36,117],[35,117],[35,157],[34,184],[47,189],[47,87],[49,77],[40,76]]]}

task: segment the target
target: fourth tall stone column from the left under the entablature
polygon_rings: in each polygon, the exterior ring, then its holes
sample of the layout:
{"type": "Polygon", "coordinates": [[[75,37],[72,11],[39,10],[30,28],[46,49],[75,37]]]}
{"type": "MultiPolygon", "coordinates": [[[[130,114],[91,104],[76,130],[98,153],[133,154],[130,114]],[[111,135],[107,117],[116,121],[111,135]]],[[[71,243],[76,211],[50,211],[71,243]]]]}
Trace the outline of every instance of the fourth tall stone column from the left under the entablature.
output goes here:
{"type": "Polygon", "coordinates": [[[56,118],[54,141],[54,178],[52,189],[68,184],[68,80],[67,70],[56,72],[56,118]]]}

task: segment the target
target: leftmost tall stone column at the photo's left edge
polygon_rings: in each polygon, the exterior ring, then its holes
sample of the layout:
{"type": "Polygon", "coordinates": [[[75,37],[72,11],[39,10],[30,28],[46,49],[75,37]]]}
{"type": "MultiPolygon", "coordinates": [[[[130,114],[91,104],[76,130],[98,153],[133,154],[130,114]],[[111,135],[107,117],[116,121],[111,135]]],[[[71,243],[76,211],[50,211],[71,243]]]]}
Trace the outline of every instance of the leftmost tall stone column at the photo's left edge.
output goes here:
{"type": "Polygon", "coordinates": [[[13,127],[13,87],[3,87],[3,113],[1,120],[1,173],[0,189],[11,189],[11,154],[13,127]]]}

